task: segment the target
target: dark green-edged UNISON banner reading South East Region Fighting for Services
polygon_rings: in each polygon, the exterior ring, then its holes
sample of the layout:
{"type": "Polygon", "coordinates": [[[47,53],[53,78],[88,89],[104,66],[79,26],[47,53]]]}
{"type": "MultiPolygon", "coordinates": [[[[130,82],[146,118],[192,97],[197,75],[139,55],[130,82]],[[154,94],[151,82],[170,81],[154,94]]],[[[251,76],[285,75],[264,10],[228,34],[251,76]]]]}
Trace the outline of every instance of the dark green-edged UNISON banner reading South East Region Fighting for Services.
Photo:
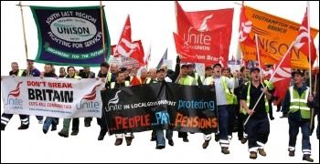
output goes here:
{"type": "MultiPolygon", "coordinates": [[[[101,30],[101,6],[30,6],[37,25],[37,63],[63,66],[99,67],[105,61],[101,30]]],[[[110,35],[103,13],[107,59],[110,35]]]]}

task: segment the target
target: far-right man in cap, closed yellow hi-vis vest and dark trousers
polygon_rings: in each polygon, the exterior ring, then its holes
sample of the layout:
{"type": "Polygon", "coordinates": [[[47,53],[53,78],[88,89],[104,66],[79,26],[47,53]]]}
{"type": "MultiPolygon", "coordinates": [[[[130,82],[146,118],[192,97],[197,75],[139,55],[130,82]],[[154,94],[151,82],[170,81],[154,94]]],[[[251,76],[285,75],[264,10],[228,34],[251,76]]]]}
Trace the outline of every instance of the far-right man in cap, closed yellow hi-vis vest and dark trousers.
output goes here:
{"type": "Polygon", "coordinates": [[[294,85],[289,87],[283,99],[283,113],[288,113],[289,122],[289,156],[294,156],[296,139],[299,128],[303,134],[302,150],[303,160],[313,162],[311,159],[310,118],[311,109],[315,108],[315,98],[310,95],[310,88],[304,84],[304,73],[300,70],[293,72],[294,85]]]}

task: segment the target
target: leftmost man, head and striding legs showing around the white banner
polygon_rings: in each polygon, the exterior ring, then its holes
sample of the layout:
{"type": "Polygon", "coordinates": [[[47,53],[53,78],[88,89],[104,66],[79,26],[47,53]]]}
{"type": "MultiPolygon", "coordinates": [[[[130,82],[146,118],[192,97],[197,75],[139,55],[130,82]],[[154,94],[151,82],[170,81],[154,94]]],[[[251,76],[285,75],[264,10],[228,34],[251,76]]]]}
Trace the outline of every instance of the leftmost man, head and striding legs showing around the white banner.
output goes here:
{"type": "MultiPolygon", "coordinates": [[[[12,77],[26,77],[26,71],[20,70],[19,66],[16,62],[11,63],[12,70],[9,72],[9,75],[12,77]]],[[[2,78],[1,78],[2,80],[2,78]]],[[[6,125],[9,123],[10,119],[14,116],[14,114],[5,114],[3,113],[1,116],[1,130],[5,130],[6,125]]],[[[19,115],[21,120],[21,126],[17,129],[27,129],[29,128],[29,121],[27,120],[27,115],[19,115]]]]}

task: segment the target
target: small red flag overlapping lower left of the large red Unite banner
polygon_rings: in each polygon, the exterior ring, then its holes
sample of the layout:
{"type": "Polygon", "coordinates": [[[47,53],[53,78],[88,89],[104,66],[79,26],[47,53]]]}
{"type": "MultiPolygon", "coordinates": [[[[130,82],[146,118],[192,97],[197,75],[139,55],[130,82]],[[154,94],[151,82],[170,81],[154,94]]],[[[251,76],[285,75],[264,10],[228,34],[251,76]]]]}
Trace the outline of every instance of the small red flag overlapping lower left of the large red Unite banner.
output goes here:
{"type": "Polygon", "coordinates": [[[174,32],[174,39],[176,44],[176,54],[181,55],[182,62],[198,62],[195,52],[191,46],[188,46],[187,42],[181,36],[178,36],[174,32]]]}

